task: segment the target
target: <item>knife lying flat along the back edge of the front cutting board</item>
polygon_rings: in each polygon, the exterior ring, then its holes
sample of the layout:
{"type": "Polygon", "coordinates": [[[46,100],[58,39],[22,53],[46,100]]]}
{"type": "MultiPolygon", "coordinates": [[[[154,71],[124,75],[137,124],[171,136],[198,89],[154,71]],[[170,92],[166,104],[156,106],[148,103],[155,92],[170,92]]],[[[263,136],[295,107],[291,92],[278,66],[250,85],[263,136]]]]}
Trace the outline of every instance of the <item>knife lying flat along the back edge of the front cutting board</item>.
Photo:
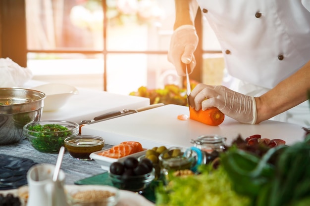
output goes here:
{"type": "Polygon", "coordinates": [[[145,106],[145,107],[140,107],[140,108],[135,109],[135,110],[128,110],[128,109],[123,109],[122,111],[116,110],[116,111],[108,112],[108,113],[105,113],[103,115],[97,116],[94,118],[94,120],[82,120],[81,124],[98,123],[101,121],[110,120],[113,118],[122,117],[125,115],[130,115],[133,113],[142,112],[142,111],[149,110],[149,109],[154,109],[156,107],[160,107],[163,105],[164,105],[163,103],[158,103],[158,104],[151,104],[151,105],[145,106]]]}

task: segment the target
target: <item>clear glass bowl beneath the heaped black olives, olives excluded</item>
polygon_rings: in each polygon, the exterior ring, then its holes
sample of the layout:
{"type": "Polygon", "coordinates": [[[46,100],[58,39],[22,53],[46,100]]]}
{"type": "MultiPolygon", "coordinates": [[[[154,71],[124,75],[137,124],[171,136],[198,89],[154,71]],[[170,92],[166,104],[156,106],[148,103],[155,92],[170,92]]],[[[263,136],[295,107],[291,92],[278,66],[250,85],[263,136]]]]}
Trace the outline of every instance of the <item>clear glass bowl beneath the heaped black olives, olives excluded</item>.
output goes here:
{"type": "Polygon", "coordinates": [[[143,175],[123,176],[112,174],[108,170],[109,178],[113,185],[121,190],[143,193],[143,191],[155,179],[155,168],[151,172],[143,175]]]}

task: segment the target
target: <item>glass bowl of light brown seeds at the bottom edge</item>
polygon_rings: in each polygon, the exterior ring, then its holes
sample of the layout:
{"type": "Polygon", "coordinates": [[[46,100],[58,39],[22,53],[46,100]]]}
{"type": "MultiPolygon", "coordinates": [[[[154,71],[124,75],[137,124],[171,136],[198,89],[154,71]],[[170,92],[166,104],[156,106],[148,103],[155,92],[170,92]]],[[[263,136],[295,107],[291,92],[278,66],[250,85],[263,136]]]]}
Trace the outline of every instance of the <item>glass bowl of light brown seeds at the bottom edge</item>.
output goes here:
{"type": "Polygon", "coordinates": [[[70,206],[115,206],[119,189],[108,185],[79,185],[68,192],[70,206]]]}

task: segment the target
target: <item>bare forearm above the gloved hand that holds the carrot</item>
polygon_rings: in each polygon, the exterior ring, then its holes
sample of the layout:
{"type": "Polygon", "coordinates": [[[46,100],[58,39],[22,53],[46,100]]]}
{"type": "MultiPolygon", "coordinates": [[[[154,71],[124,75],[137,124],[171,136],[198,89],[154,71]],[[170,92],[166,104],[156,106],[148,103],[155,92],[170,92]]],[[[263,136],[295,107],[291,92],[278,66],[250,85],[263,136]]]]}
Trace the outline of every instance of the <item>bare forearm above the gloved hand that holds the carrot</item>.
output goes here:
{"type": "Polygon", "coordinates": [[[310,90],[310,61],[270,91],[260,97],[255,97],[256,123],[268,120],[306,101],[308,90],[310,90]]]}

